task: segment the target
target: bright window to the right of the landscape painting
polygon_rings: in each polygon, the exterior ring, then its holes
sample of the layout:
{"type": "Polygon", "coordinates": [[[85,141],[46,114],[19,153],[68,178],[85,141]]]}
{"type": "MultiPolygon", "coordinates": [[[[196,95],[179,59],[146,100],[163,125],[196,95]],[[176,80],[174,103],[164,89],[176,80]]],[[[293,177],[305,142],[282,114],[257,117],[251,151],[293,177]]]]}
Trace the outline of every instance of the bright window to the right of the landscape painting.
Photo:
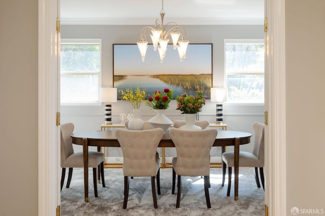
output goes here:
{"type": "Polygon", "coordinates": [[[264,103],[264,41],[225,40],[228,102],[264,103]]]}

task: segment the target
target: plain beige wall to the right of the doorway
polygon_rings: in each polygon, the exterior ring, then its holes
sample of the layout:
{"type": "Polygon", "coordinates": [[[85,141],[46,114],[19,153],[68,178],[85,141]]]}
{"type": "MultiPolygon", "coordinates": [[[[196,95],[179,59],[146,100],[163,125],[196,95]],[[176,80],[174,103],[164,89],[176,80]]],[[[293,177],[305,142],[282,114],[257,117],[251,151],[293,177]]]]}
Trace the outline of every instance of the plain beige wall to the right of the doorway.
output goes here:
{"type": "Polygon", "coordinates": [[[292,207],[325,214],[325,1],[285,4],[287,215],[292,207]]]}

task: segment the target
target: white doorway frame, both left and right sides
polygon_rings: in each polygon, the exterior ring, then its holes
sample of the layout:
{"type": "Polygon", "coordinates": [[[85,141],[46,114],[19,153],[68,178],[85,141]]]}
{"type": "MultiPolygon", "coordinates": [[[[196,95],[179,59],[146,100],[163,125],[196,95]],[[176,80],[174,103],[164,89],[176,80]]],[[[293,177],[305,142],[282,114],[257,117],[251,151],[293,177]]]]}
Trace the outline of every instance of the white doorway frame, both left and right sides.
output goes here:
{"type": "MultiPolygon", "coordinates": [[[[59,0],[39,0],[39,215],[55,216],[60,204],[58,112],[59,0]]],[[[269,215],[286,214],[285,1],[266,0],[266,195],[269,215]],[[276,86],[274,86],[276,84],[276,86]]]]}

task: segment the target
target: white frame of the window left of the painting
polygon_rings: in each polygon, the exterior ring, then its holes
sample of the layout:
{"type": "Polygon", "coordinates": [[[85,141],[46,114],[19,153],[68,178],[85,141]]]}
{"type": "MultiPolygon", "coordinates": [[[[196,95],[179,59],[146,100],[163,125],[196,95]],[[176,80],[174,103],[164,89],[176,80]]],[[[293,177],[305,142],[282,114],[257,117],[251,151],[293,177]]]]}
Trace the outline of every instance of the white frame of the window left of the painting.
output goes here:
{"type": "MultiPolygon", "coordinates": [[[[88,106],[100,106],[102,102],[100,102],[100,89],[102,87],[102,39],[60,39],[60,46],[64,45],[99,45],[100,47],[100,71],[98,73],[78,73],[76,72],[67,72],[64,74],[75,74],[75,75],[98,75],[98,101],[88,101],[88,102],[64,102],[60,101],[60,105],[63,106],[71,106],[71,105],[88,105],[88,106]]],[[[61,50],[61,49],[59,49],[61,50]]],[[[60,68],[60,66],[59,66],[60,68]]],[[[61,77],[61,69],[60,69],[60,77],[61,77]]]]}

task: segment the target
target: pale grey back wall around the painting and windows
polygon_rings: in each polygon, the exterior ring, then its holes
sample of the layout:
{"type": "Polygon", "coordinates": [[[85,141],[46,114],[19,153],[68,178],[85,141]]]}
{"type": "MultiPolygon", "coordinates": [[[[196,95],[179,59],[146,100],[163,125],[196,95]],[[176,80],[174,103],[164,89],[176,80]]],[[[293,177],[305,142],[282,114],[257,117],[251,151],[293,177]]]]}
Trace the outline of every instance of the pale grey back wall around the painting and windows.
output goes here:
{"type": "MultiPolygon", "coordinates": [[[[61,38],[100,38],[102,39],[102,87],[113,86],[113,44],[135,44],[139,41],[139,31],[143,26],[137,25],[63,25],[61,38]]],[[[213,86],[224,86],[224,39],[263,39],[264,27],[261,25],[199,25],[183,26],[186,40],[190,43],[213,44],[213,86]]],[[[140,53],[139,53],[140,56],[140,53]]],[[[172,121],[184,119],[176,109],[176,101],[171,101],[166,116],[172,121]]],[[[121,113],[131,113],[132,107],[127,101],[112,103],[112,121],[119,123],[121,113]]],[[[140,108],[142,119],[149,120],[155,112],[144,104],[140,108]]],[[[224,104],[224,122],[228,130],[242,130],[252,133],[254,122],[264,123],[264,104],[238,105],[224,104]]],[[[99,130],[103,124],[104,106],[61,106],[61,123],[73,122],[75,132],[99,130]]],[[[200,113],[200,120],[215,122],[215,103],[207,101],[200,113]]],[[[253,141],[253,138],[252,140],[253,141]]],[[[75,148],[81,151],[81,147],[75,148]]],[[[232,148],[229,148],[231,150],[232,148]]],[[[252,145],[241,147],[251,151],[252,145]]]]}

